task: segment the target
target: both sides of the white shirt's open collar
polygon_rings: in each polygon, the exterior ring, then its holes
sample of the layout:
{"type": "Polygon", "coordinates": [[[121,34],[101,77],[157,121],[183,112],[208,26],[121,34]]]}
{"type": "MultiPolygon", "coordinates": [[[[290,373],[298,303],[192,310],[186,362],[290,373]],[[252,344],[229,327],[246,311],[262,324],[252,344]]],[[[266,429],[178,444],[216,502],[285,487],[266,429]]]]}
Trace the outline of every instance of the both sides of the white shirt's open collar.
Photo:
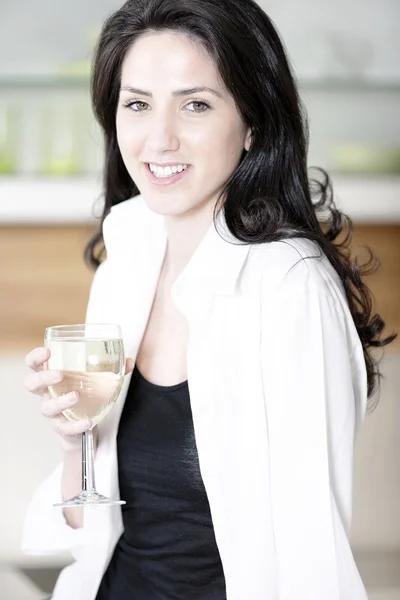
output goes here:
{"type": "MultiPolygon", "coordinates": [[[[144,275],[161,268],[167,248],[164,217],[151,211],[141,195],[113,207],[103,234],[110,260],[127,267],[135,263],[144,275]]],[[[189,292],[233,294],[249,250],[231,234],[222,210],[174,285],[189,292]]]]}

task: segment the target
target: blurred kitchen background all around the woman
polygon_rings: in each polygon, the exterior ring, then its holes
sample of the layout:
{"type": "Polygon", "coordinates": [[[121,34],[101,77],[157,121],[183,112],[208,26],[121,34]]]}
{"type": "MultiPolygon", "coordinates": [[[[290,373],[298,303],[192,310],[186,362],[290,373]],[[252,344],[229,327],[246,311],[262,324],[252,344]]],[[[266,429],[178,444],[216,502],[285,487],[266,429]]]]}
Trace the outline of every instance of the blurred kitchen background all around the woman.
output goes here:
{"type": "MultiPolygon", "coordinates": [[[[400,332],[400,2],[260,0],[293,63],[310,121],[309,165],[332,176],[370,246],[367,279],[386,333],[400,332]]],[[[38,600],[68,556],[20,551],[35,487],[57,436],[23,389],[44,328],[82,322],[92,273],[83,249],[101,212],[102,140],[90,57],[116,0],[0,2],[0,599],[38,600]]],[[[400,600],[400,347],[386,351],[378,408],[358,438],[352,547],[372,600],[400,600]]],[[[245,600],[245,599],[243,599],[245,600]]],[[[247,599],[246,599],[247,600],[247,599]]]]}

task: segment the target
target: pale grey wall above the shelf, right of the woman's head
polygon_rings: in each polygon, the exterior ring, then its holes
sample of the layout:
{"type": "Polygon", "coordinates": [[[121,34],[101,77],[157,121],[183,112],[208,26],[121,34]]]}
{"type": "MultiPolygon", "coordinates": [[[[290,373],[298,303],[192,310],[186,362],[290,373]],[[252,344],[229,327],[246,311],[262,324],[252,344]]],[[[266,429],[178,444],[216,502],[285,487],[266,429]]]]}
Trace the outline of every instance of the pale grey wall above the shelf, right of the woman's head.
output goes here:
{"type": "Polygon", "coordinates": [[[261,0],[302,76],[360,74],[400,78],[397,0],[261,0]],[[349,55],[346,60],[345,52],[349,55]]]}

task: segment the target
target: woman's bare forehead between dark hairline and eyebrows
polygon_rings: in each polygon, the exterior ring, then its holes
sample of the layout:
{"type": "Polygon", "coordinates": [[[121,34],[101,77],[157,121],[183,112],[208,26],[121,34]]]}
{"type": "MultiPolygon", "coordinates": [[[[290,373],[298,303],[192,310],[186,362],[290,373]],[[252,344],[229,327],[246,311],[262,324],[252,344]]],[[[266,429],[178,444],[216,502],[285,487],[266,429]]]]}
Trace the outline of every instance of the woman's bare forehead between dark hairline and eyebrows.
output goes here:
{"type": "Polygon", "coordinates": [[[217,66],[200,42],[179,32],[149,32],[128,50],[122,64],[122,84],[176,82],[224,88],[217,66]],[[139,81],[140,80],[140,81],[139,81]]]}

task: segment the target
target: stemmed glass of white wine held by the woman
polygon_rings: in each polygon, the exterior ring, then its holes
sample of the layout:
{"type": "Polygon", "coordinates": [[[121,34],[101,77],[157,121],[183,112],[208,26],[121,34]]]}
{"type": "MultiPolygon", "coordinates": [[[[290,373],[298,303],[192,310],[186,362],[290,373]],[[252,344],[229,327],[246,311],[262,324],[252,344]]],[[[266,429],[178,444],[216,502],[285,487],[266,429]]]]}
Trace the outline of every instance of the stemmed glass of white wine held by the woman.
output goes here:
{"type": "Polygon", "coordinates": [[[82,491],[54,506],[125,504],[97,492],[93,450],[93,427],[114,406],[124,380],[125,352],[120,327],[98,323],[48,327],[44,345],[51,351],[46,368],[63,372],[63,380],[48,388],[51,398],[77,392],[78,402],[64,410],[63,415],[73,422],[87,418],[92,422],[82,434],[82,491]]]}

